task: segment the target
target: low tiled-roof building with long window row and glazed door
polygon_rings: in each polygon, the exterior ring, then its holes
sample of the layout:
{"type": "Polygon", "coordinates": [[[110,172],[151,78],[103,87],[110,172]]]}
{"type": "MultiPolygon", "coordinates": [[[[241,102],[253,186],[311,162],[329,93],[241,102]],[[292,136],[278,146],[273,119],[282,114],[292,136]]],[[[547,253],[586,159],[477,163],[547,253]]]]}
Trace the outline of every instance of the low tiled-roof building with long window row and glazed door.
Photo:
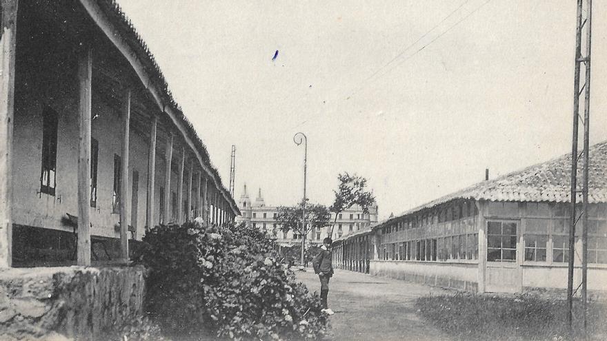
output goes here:
{"type": "MultiPolygon", "coordinates": [[[[338,239],[339,267],[479,292],[567,287],[571,156],[472,185],[338,239]],[[368,264],[364,266],[365,264],[368,264]]],[[[579,165],[581,174],[581,165],[579,165]]],[[[588,289],[607,289],[607,142],[590,147],[588,289]]],[[[577,198],[581,212],[581,193],[577,198]]],[[[581,281],[581,220],[575,285],[581,281]]]]}

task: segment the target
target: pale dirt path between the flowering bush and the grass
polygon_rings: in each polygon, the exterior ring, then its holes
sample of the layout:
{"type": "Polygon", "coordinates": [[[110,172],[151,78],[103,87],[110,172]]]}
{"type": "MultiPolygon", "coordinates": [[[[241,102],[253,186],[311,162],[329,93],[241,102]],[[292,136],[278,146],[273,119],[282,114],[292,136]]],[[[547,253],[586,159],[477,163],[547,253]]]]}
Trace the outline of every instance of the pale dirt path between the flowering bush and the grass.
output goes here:
{"type": "MultiPolygon", "coordinates": [[[[320,282],[312,269],[295,271],[310,291],[320,282]]],[[[336,270],[329,284],[328,304],[335,315],[326,340],[449,340],[417,315],[415,299],[443,289],[401,280],[336,270]]]]}

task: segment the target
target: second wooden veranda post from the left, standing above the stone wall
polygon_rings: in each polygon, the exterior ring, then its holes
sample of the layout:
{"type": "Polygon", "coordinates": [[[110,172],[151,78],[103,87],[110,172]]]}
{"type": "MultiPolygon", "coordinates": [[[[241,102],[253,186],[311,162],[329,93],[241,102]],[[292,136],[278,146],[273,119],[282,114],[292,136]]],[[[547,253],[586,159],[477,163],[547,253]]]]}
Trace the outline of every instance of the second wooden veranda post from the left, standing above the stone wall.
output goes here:
{"type": "Polygon", "coordinates": [[[90,265],[90,118],[92,50],[85,43],[78,56],[79,158],[77,264],[90,265]]]}

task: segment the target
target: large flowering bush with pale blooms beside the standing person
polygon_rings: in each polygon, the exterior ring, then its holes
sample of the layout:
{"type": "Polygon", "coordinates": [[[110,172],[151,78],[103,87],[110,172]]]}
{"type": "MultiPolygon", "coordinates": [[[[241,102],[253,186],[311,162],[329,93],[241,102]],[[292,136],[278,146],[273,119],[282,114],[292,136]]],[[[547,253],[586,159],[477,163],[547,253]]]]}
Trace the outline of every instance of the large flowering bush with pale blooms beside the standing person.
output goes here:
{"type": "Polygon", "coordinates": [[[319,338],[319,297],[277,262],[266,235],[245,225],[159,226],[143,238],[146,309],[169,333],[235,340],[319,338]]]}

